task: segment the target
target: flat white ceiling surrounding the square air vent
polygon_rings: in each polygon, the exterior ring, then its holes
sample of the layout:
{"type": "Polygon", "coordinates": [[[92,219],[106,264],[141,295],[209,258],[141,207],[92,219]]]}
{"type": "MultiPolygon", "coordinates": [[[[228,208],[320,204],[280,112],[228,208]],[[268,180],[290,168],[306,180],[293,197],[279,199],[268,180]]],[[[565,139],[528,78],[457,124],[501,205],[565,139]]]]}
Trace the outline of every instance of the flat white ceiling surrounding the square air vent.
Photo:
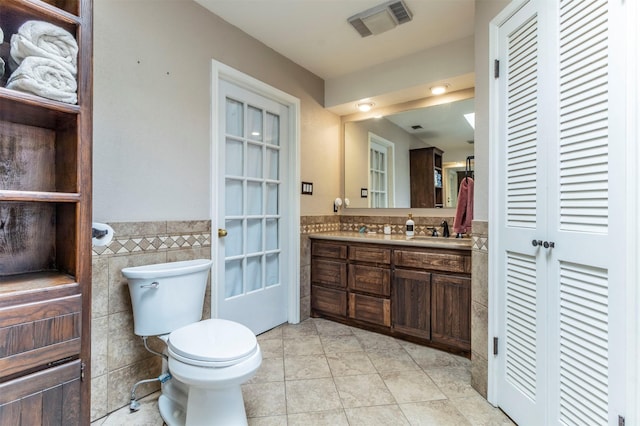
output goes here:
{"type": "Polygon", "coordinates": [[[473,35],[475,0],[404,0],[413,20],[360,37],[347,19],[386,0],[195,0],[327,80],[473,35]]]}

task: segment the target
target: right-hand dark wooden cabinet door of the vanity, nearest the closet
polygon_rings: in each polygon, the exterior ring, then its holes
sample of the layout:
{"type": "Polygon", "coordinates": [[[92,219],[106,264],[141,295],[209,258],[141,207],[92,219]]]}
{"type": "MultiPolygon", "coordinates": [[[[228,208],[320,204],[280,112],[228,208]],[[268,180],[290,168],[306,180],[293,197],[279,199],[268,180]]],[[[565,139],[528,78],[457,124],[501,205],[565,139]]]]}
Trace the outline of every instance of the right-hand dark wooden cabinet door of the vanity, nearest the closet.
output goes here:
{"type": "Polygon", "coordinates": [[[431,276],[431,340],[471,350],[471,279],[431,276]]]}

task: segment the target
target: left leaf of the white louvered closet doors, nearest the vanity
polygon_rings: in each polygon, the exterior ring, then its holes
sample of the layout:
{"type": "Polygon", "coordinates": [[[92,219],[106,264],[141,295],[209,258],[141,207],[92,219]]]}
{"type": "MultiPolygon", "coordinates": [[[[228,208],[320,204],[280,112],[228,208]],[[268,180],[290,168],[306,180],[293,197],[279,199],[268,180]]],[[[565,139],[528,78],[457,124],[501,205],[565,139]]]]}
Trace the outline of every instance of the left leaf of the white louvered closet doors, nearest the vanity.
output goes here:
{"type": "Polygon", "coordinates": [[[539,12],[528,3],[500,27],[499,404],[518,423],[545,424],[545,265],[531,242],[547,227],[539,113],[539,12]]]}

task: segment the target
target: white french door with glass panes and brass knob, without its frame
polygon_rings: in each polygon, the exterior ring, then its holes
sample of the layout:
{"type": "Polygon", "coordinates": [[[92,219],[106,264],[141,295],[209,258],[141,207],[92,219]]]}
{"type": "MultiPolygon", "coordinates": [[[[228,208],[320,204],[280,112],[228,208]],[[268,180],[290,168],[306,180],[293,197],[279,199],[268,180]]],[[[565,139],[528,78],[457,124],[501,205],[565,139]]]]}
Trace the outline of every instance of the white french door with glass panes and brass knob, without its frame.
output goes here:
{"type": "Polygon", "coordinates": [[[215,312],[258,334],[288,314],[287,107],[224,80],[219,87],[215,312]]]}

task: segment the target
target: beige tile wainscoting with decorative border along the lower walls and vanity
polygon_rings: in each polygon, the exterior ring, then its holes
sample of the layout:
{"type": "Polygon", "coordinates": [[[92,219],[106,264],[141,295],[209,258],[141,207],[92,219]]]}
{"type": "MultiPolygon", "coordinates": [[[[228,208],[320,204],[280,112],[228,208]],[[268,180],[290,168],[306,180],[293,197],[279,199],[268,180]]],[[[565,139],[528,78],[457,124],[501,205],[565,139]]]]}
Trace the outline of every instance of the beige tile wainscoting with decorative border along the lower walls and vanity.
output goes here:
{"type": "MultiPolygon", "coordinates": [[[[404,231],[405,216],[302,216],[300,218],[300,319],[311,312],[311,245],[308,234],[322,231],[357,231],[366,226],[382,233],[385,224],[392,233],[404,231]]],[[[452,226],[452,217],[414,217],[416,235],[440,231],[443,220],[452,226]]],[[[152,263],[210,258],[211,221],[109,223],[115,231],[106,247],[94,247],[92,273],[92,355],[91,419],[106,416],[128,405],[131,387],[139,380],[157,377],[161,362],[144,349],[133,333],[133,316],[122,268],[152,263]]],[[[474,222],[472,279],[472,381],[486,395],[486,222],[474,222]],[[483,225],[484,224],[484,225],[483,225]],[[476,227],[480,226],[477,231],[476,227]],[[482,228],[484,226],[484,228],[482,228]],[[484,271],[484,272],[483,272],[484,271]],[[482,332],[484,330],[484,335],[482,332]],[[483,340],[484,339],[484,340],[483,340]]],[[[210,288],[207,287],[203,318],[211,316],[210,288]]],[[[150,339],[153,345],[154,339],[150,339]]],[[[156,348],[157,349],[157,348],[156,348]]],[[[142,397],[159,389],[158,384],[138,387],[142,397]]]]}

